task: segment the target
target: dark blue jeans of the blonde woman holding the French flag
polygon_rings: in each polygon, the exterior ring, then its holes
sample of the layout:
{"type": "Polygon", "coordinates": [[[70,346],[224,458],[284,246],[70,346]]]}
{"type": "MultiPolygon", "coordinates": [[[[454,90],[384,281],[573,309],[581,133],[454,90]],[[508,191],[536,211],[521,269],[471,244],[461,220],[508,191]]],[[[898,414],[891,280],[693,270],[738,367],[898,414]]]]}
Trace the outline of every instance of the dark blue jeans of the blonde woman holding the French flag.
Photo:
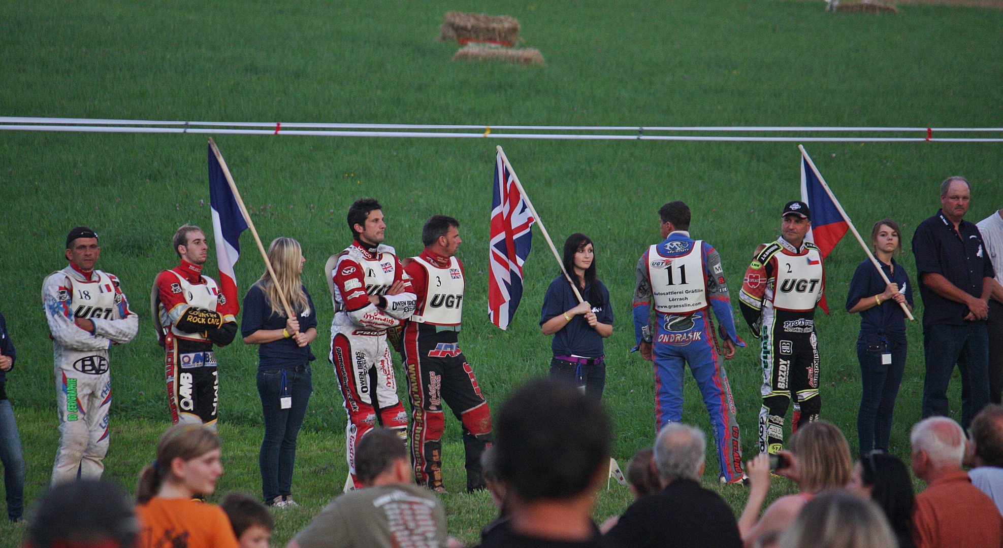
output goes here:
{"type": "Polygon", "coordinates": [[[261,442],[258,465],[266,502],[279,495],[292,495],[296,436],[313,392],[312,377],[309,365],[258,372],[258,395],[265,416],[265,439],[261,442]],[[292,407],[282,409],[282,397],[291,397],[292,407]]]}

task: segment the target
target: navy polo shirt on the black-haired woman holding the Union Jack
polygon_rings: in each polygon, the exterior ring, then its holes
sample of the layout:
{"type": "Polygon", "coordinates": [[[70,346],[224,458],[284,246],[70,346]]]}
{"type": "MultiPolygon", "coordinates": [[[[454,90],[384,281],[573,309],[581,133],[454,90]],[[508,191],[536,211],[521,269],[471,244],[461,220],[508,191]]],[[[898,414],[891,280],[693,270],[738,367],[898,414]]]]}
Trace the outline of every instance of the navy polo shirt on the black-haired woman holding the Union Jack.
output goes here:
{"type": "MultiPolygon", "coordinates": [[[[592,305],[592,312],[600,324],[613,325],[613,307],[610,305],[610,292],[602,282],[596,280],[599,291],[603,295],[605,305],[597,307],[592,305]]],[[[589,294],[592,292],[592,285],[586,284],[585,291],[582,292],[582,299],[589,301],[589,294]]],[[[578,298],[571,288],[571,283],[564,276],[559,276],[551,287],[547,289],[544,297],[544,310],[540,316],[540,325],[543,326],[548,320],[561,316],[578,306],[578,298]]],[[[589,326],[589,322],[584,315],[578,315],[571,319],[561,331],[554,334],[554,341],[551,343],[554,356],[581,356],[583,358],[599,358],[604,356],[603,336],[589,326]]]]}

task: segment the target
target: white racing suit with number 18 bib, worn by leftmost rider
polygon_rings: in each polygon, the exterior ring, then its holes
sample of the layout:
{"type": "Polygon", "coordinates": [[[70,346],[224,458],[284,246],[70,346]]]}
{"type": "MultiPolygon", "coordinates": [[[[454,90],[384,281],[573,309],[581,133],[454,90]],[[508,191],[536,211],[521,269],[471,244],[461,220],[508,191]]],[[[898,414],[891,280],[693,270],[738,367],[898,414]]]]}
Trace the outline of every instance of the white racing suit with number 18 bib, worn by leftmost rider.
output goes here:
{"type": "Polygon", "coordinates": [[[108,349],[135,337],[139,317],[129,310],[118,279],[101,270],[84,272],[70,263],[42,285],[42,305],[55,359],[59,448],[52,483],[96,479],[108,452],[111,376],[108,349]],[[77,327],[94,323],[94,333],[77,327]]]}

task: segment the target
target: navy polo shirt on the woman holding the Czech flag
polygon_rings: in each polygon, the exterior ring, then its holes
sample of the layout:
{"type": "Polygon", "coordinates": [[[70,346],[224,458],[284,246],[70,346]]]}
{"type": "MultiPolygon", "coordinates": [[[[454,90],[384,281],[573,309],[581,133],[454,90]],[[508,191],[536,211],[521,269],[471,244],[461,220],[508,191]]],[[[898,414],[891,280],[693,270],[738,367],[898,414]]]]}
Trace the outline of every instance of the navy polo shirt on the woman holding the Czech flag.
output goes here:
{"type": "MultiPolygon", "coordinates": [[[[892,264],[881,264],[889,281],[899,286],[899,291],[906,295],[906,303],[913,306],[913,285],[909,282],[906,268],[892,259],[892,264]],[[893,269],[894,266],[894,269],[893,269]]],[[[874,297],[885,293],[886,284],[875,268],[874,262],[867,259],[857,266],[854,279],[850,281],[850,294],[847,295],[847,310],[853,309],[865,297],[874,297]]],[[[898,303],[889,299],[881,305],[872,307],[861,313],[861,337],[878,335],[899,343],[906,342],[906,313],[898,303]]]]}

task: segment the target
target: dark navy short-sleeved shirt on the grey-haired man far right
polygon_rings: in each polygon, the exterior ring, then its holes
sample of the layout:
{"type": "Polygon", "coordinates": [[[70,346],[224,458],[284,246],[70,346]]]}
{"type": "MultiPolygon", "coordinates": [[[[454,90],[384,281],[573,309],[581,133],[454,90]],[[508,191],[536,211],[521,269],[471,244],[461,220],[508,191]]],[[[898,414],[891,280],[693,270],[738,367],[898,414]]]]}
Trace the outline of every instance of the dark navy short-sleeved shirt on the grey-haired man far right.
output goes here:
{"type": "Polygon", "coordinates": [[[925,272],[939,273],[972,297],[982,297],[982,279],[993,278],[993,264],[974,222],[961,220],[958,229],[941,209],[913,234],[916,279],[923,298],[923,329],[934,324],[964,326],[968,307],[937,295],[923,284],[925,272]]]}

